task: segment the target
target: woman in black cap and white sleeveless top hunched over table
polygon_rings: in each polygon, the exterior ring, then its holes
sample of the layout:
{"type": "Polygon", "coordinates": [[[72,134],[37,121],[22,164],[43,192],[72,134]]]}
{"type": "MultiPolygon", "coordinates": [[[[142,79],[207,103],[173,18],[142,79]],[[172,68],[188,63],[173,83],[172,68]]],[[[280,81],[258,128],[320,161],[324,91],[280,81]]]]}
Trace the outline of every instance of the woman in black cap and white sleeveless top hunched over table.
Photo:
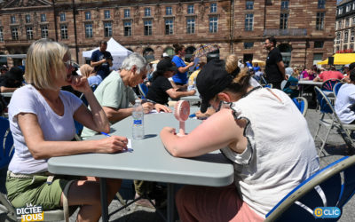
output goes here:
{"type": "Polygon", "coordinates": [[[252,87],[237,56],[210,61],[197,76],[201,112],[217,113],[183,137],[165,127],[160,136],[173,156],[215,150],[233,162],[234,183],[184,186],[176,195],[181,221],[263,221],[280,200],[319,170],[304,116],[283,91],[252,87]]]}

